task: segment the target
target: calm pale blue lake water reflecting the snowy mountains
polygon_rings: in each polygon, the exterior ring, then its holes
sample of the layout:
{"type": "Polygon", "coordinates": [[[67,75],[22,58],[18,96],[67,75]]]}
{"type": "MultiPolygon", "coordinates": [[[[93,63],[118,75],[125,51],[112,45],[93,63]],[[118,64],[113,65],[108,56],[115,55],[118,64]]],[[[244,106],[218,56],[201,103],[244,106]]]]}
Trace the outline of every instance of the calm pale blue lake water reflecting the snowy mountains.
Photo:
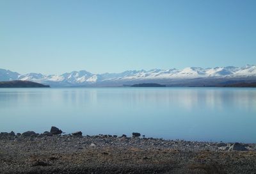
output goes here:
{"type": "Polygon", "coordinates": [[[256,143],[253,88],[1,88],[0,132],[256,143]]]}

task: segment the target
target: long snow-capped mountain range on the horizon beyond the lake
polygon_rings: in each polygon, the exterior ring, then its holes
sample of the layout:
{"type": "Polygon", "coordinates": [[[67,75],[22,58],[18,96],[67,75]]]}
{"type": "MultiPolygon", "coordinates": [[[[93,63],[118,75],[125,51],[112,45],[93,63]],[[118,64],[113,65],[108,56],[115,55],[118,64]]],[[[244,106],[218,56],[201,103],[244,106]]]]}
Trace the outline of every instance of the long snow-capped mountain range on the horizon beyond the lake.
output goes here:
{"type": "Polygon", "coordinates": [[[163,83],[177,84],[178,82],[209,81],[209,79],[246,80],[255,79],[256,66],[244,67],[215,67],[200,68],[188,67],[182,70],[175,68],[169,70],[127,70],[121,73],[92,74],[85,70],[73,71],[61,75],[44,75],[29,73],[20,75],[17,72],[0,69],[0,81],[34,81],[36,83],[49,84],[51,86],[122,86],[133,83],[163,83]]]}

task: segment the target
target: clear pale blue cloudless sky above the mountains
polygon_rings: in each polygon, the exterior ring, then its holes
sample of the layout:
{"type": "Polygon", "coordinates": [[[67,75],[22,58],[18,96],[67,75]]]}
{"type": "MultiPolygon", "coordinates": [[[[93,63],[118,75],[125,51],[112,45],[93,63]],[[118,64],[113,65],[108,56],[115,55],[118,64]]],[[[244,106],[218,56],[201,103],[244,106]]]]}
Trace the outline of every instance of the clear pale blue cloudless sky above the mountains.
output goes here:
{"type": "Polygon", "coordinates": [[[256,63],[255,0],[0,0],[0,68],[92,73],[256,63]]]}

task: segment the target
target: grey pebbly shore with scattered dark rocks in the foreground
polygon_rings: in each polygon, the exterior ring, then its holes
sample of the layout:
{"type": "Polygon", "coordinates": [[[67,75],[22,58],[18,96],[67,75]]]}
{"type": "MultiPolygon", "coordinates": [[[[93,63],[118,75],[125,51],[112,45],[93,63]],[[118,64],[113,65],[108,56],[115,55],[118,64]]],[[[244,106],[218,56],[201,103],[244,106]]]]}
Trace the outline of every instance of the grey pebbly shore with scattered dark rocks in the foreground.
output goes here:
{"type": "Polygon", "coordinates": [[[256,173],[256,144],[1,132],[0,173],[256,173]]]}

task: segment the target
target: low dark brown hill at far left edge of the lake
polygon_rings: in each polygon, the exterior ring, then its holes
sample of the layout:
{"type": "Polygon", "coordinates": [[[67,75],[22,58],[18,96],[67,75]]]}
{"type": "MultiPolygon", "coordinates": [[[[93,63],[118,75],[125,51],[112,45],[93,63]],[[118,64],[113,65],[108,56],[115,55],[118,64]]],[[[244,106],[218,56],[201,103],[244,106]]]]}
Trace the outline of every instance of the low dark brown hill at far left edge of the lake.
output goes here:
{"type": "Polygon", "coordinates": [[[49,85],[35,83],[31,81],[2,81],[0,88],[49,88],[49,85]]]}

